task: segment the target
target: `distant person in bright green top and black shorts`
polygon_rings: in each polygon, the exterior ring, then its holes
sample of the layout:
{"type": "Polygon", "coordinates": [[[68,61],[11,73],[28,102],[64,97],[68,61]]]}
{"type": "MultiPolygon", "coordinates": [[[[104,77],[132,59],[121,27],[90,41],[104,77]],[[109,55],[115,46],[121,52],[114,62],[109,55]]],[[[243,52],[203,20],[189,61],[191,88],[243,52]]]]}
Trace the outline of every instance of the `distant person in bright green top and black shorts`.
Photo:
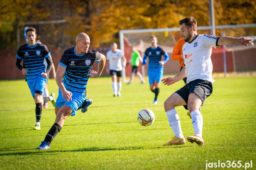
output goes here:
{"type": "Polygon", "coordinates": [[[139,62],[142,63],[143,59],[142,59],[141,55],[139,54],[139,51],[136,50],[136,48],[134,46],[132,46],[131,48],[132,48],[133,52],[131,54],[131,59],[126,64],[126,67],[128,66],[129,63],[131,63],[132,73],[131,73],[130,81],[127,84],[131,83],[131,81],[133,80],[133,78],[135,76],[135,73],[138,75],[139,79],[141,80],[141,83],[145,83],[145,80],[143,79],[143,76],[140,74],[140,72],[138,70],[139,62]]]}

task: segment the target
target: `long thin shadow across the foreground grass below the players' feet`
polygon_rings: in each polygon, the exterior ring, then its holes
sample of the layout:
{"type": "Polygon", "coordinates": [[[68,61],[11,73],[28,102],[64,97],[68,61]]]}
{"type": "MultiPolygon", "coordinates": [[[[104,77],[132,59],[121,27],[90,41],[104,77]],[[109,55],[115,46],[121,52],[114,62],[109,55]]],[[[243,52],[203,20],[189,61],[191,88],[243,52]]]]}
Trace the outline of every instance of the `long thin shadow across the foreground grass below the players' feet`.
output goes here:
{"type": "MultiPolygon", "coordinates": [[[[12,153],[0,153],[0,156],[10,156],[10,155],[31,155],[31,154],[45,154],[45,153],[61,153],[61,152],[98,152],[98,151],[117,151],[117,150],[145,150],[145,149],[176,149],[176,148],[189,148],[192,145],[173,145],[173,146],[158,146],[158,147],[121,147],[121,148],[81,148],[75,150],[31,150],[26,152],[15,152],[13,148],[3,148],[0,151],[13,151],[12,153]],[[11,150],[10,150],[11,149],[11,150]]],[[[18,147],[16,147],[18,148],[18,147]]],[[[25,150],[25,149],[24,149],[25,150]]],[[[17,150],[18,151],[18,150],[17,150]]]]}

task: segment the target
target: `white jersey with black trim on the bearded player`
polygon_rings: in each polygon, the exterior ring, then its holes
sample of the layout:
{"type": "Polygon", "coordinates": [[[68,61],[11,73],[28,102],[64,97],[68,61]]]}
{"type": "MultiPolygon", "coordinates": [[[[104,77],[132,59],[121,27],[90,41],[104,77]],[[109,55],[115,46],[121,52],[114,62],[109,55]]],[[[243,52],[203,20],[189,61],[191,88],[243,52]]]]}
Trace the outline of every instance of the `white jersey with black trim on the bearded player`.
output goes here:
{"type": "Polygon", "coordinates": [[[187,83],[196,80],[214,82],[212,78],[212,47],[218,46],[220,37],[198,34],[191,42],[186,42],[183,47],[183,59],[186,67],[187,83]]]}

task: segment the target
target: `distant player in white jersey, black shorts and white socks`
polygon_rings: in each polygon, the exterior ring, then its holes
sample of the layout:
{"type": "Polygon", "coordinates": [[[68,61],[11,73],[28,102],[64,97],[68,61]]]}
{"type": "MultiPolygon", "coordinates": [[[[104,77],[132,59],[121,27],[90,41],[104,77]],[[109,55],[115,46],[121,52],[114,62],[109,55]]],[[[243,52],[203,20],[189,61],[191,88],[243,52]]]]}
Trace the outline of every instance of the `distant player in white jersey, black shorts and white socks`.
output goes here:
{"type": "Polygon", "coordinates": [[[121,97],[122,88],[122,70],[126,66],[126,59],[120,49],[117,49],[117,43],[113,42],[110,45],[111,50],[107,51],[106,60],[109,61],[109,69],[106,71],[110,73],[112,78],[112,89],[114,96],[121,97]]]}

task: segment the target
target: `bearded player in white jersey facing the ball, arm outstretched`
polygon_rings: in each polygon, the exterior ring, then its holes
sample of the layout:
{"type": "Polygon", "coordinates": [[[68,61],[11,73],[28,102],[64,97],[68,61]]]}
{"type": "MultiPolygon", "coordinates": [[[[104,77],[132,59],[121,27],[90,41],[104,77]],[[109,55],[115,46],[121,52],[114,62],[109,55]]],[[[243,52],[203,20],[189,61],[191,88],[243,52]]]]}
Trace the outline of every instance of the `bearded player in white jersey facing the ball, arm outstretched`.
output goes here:
{"type": "Polygon", "coordinates": [[[197,33],[197,22],[194,17],[187,17],[179,21],[180,35],[186,42],[183,47],[184,68],[175,77],[167,77],[161,81],[164,85],[172,85],[175,82],[187,77],[186,85],[174,92],[164,102],[164,109],[168,118],[174,137],[164,145],[185,144],[186,140],[182,134],[179,116],[175,107],[184,106],[192,117],[194,135],[188,136],[191,143],[204,145],[202,139],[203,117],[199,111],[204,100],[212,94],[212,47],[219,45],[231,45],[239,43],[248,46],[249,40],[246,37],[216,37],[208,34],[197,33]]]}

